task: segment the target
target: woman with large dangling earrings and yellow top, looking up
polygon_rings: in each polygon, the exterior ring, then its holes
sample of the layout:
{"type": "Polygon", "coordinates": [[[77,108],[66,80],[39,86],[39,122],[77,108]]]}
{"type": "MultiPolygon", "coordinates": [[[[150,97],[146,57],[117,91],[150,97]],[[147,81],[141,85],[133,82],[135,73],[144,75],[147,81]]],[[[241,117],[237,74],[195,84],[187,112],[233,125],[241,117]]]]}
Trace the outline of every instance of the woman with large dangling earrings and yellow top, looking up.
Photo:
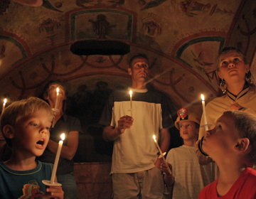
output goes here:
{"type": "MultiPolygon", "coordinates": [[[[218,56],[218,76],[220,77],[220,89],[225,95],[216,97],[206,105],[206,119],[208,124],[213,124],[223,112],[235,109],[256,117],[256,92],[255,85],[252,82],[250,65],[248,65],[245,55],[240,50],[233,47],[223,48],[218,56]]],[[[203,117],[201,126],[205,124],[203,117]]],[[[200,128],[199,140],[196,150],[199,163],[207,164],[212,159],[203,152],[201,145],[203,136],[206,135],[206,129],[200,128]]],[[[218,175],[218,174],[217,174],[218,175]]]]}

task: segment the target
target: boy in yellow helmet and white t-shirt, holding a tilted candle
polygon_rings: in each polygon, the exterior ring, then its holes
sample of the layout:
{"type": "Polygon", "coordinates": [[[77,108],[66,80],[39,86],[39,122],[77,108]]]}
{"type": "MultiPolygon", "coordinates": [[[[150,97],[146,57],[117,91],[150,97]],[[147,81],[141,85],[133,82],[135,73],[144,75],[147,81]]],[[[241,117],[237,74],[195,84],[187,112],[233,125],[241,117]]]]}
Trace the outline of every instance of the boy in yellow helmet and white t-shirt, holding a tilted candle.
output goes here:
{"type": "Polygon", "coordinates": [[[180,131],[183,145],[171,149],[166,161],[171,168],[171,173],[165,163],[161,163],[161,171],[166,173],[164,182],[172,193],[172,198],[198,198],[199,192],[214,180],[214,166],[210,163],[201,166],[195,152],[198,140],[200,119],[186,109],[178,110],[175,127],[180,131]]]}

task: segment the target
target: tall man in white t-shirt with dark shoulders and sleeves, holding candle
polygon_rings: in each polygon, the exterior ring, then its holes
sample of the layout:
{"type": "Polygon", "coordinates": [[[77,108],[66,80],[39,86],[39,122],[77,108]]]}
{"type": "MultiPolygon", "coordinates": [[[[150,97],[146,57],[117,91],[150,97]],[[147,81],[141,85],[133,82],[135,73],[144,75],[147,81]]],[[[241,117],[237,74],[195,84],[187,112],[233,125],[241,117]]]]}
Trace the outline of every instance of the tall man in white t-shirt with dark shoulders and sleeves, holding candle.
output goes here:
{"type": "Polygon", "coordinates": [[[161,158],[153,135],[161,129],[161,150],[168,151],[173,124],[166,97],[146,89],[149,60],[135,55],[129,63],[132,87],[110,95],[100,124],[105,125],[103,138],[114,141],[112,183],[114,198],[164,198],[161,158]],[[132,104],[129,90],[132,90],[132,104]],[[131,110],[132,107],[132,110],[131,110]],[[132,111],[132,112],[131,112],[132,111]],[[132,116],[131,116],[132,115],[132,116]]]}

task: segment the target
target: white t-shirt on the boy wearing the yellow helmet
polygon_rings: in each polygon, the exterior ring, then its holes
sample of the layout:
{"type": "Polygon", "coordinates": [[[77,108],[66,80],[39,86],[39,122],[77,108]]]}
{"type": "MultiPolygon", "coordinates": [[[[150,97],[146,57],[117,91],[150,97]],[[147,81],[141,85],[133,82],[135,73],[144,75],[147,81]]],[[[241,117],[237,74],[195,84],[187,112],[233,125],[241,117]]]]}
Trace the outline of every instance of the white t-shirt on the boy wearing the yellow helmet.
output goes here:
{"type": "Polygon", "coordinates": [[[173,199],[197,199],[200,191],[214,181],[214,163],[201,166],[193,146],[171,149],[166,161],[171,163],[175,178],[173,199]]]}

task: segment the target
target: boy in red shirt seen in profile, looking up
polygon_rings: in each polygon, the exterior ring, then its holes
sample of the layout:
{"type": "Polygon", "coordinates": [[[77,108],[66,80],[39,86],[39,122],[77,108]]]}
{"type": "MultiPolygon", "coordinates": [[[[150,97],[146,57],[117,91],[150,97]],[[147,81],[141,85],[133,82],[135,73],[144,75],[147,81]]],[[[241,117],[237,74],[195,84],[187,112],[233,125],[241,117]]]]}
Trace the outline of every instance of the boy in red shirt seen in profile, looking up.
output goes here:
{"type": "Polygon", "coordinates": [[[220,177],[203,188],[199,199],[256,198],[256,118],[239,110],[226,111],[206,131],[203,151],[218,164],[220,177]]]}

